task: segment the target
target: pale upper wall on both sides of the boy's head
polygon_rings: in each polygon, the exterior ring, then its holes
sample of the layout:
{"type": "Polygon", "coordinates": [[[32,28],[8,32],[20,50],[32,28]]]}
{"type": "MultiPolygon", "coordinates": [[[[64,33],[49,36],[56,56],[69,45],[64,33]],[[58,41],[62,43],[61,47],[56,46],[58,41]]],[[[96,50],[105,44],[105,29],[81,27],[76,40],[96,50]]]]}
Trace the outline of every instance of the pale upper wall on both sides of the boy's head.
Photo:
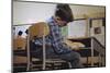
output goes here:
{"type": "MultiPolygon", "coordinates": [[[[13,2],[13,25],[45,21],[54,14],[55,3],[13,2]]],[[[105,15],[103,7],[70,4],[75,19],[105,15]]]]}

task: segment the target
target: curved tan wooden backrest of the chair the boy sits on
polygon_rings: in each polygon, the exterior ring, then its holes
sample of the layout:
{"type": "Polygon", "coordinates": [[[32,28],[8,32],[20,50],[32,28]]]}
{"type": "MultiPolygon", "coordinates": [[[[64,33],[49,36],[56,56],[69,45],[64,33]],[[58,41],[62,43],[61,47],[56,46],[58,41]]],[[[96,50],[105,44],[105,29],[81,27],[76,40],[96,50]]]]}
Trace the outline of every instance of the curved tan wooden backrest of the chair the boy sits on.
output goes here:
{"type": "Polygon", "coordinates": [[[50,34],[48,25],[45,22],[35,23],[29,28],[30,40],[34,37],[40,38],[50,34]]]}

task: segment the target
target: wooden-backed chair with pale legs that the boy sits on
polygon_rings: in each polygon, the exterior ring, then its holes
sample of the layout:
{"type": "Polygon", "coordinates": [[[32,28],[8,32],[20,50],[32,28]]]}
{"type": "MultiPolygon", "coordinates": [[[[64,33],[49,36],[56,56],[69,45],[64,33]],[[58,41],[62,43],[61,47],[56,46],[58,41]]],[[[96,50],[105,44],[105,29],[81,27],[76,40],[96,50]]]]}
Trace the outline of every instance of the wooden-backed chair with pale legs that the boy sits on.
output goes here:
{"type": "MultiPolygon", "coordinates": [[[[50,27],[46,23],[44,22],[40,22],[40,23],[36,23],[36,24],[33,24],[30,28],[29,28],[29,36],[28,36],[28,62],[29,62],[29,66],[28,66],[28,70],[30,71],[30,64],[31,64],[31,54],[30,54],[30,40],[33,40],[34,37],[37,37],[37,38],[42,38],[43,39],[43,66],[42,66],[42,70],[46,70],[46,63],[55,63],[55,62],[66,62],[66,61],[63,61],[61,59],[46,59],[46,42],[45,42],[45,36],[47,36],[50,34],[50,27]]],[[[69,63],[70,65],[70,63],[69,63]]],[[[72,68],[72,66],[70,66],[72,68]]]]}

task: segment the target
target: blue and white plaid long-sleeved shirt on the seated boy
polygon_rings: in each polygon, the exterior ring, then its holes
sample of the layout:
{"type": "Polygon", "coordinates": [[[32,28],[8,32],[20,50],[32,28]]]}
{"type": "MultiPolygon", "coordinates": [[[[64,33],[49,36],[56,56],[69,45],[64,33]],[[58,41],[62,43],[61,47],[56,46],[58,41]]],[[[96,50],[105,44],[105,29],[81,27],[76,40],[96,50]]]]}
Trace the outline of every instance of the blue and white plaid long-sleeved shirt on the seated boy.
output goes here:
{"type": "MultiPolygon", "coordinates": [[[[72,50],[69,47],[63,42],[62,31],[58,24],[55,22],[53,17],[47,21],[50,26],[50,35],[46,36],[45,40],[47,45],[51,45],[52,48],[55,50],[56,53],[67,53],[72,50]]],[[[43,39],[36,39],[35,45],[42,45],[43,39]]]]}

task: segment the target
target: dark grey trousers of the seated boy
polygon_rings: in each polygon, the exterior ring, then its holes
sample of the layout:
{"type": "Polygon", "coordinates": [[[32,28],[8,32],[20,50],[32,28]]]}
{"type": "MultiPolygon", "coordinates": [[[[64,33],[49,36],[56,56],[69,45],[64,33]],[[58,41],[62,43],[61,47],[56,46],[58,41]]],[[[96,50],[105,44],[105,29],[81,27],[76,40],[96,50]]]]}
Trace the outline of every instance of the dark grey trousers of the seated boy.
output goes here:
{"type": "MultiPolygon", "coordinates": [[[[43,49],[40,46],[31,46],[31,51],[34,51],[35,53],[31,53],[34,57],[43,58],[43,49]]],[[[80,69],[82,68],[82,64],[80,62],[80,54],[76,52],[75,50],[72,50],[68,53],[62,53],[57,54],[55,53],[54,49],[51,47],[46,48],[46,59],[62,59],[67,62],[70,62],[73,69],[80,69]]]]}

